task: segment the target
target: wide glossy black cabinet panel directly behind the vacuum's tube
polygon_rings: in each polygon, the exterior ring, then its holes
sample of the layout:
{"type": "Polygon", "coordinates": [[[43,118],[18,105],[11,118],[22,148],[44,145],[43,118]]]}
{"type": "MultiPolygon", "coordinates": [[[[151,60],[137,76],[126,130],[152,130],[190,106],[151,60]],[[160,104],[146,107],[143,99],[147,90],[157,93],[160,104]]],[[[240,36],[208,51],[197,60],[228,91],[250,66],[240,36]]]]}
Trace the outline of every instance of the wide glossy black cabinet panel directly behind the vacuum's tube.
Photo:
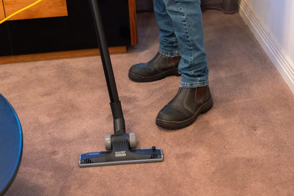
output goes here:
{"type": "MultiPolygon", "coordinates": [[[[68,16],[8,21],[13,55],[97,48],[88,1],[67,0],[68,16]]],[[[131,44],[128,0],[98,0],[108,46],[131,44]]]]}

